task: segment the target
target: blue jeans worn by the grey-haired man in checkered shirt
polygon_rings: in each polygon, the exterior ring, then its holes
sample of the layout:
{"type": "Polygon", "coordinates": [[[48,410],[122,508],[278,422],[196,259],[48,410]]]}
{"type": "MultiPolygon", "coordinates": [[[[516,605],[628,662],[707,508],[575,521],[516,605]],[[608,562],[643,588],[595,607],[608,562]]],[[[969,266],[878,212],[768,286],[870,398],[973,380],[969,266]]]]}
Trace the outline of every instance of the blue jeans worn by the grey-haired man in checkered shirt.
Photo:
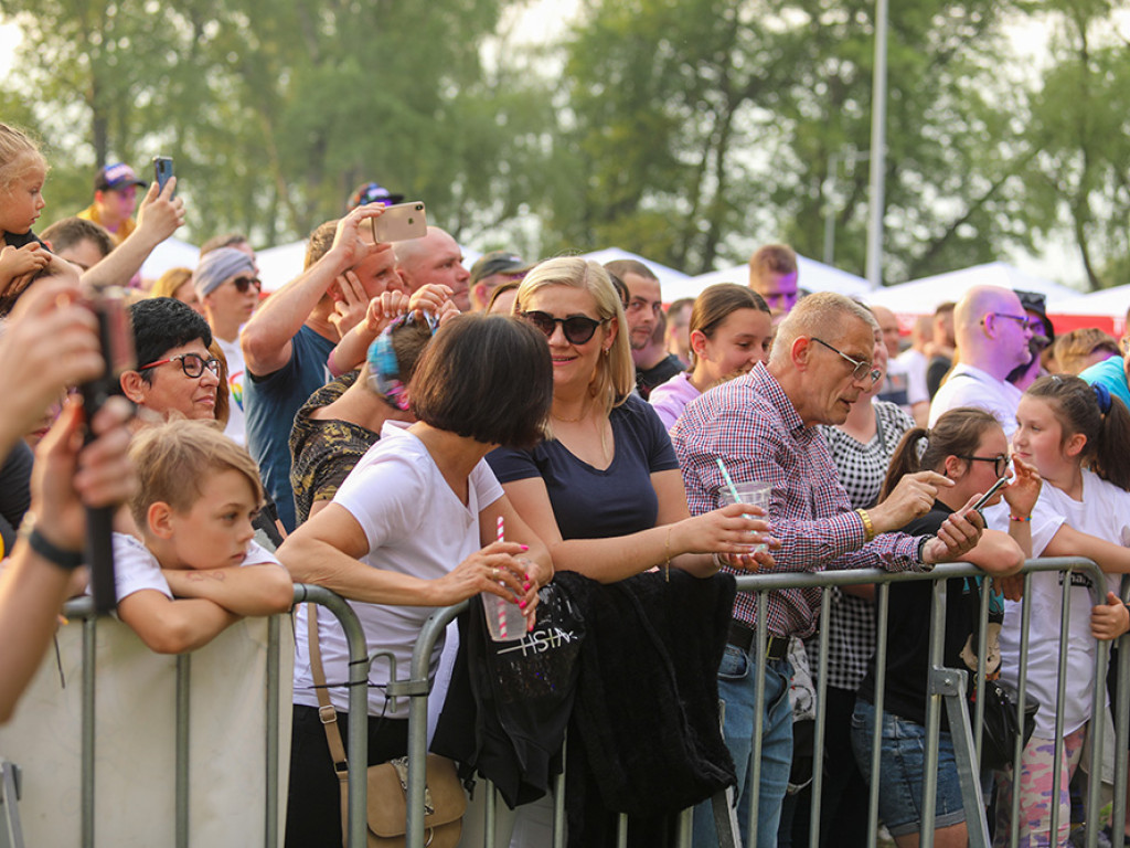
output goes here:
{"type": "MultiPolygon", "coordinates": [[[[755,710],[757,664],[732,644],[725,647],[718,669],[718,694],[725,710],[723,734],[737,769],[738,828],[746,846],[775,846],[781,804],[792,768],[792,707],[789,704],[789,681],[792,666],[786,659],[765,665],[765,709],[755,710]],[[762,724],[760,782],[757,801],[757,838],[749,838],[751,787],[746,779],[751,767],[754,728],[762,724]]],[[[716,848],[718,832],[710,802],[695,807],[695,848],[716,848]]]]}

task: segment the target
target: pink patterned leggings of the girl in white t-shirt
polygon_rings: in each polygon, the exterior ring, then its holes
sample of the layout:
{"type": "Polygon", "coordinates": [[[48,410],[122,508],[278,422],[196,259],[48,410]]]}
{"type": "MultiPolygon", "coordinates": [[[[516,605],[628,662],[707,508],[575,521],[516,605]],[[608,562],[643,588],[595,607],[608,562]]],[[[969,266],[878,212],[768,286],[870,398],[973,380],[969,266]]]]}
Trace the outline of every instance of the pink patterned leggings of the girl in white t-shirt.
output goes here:
{"type": "MultiPolygon", "coordinates": [[[[1059,839],[1057,846],[1068,843],[1071,830],[1071,799],[1068,784],[1079,764],[1083,739],[1087,727],[1063,737],[1063,756],[1055,762],[1055,742],[1033,736],[1020,758],[1020,837],[1019,848],[1048,848],[1052,827],[1052,788],[1054,769],[1060,772],[1059,839]]],[[[1009,816],[1012,812],[1012,770],[997,772],[997,832],[993,846],[1008,845],[1009,816]]]]}

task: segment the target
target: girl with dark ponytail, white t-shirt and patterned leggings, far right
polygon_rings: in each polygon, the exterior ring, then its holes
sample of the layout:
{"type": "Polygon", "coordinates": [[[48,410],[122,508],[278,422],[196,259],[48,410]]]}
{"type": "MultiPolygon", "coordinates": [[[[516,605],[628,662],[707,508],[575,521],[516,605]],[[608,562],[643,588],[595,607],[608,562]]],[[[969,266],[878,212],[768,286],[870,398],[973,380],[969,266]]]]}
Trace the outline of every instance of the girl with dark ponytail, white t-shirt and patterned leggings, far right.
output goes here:
{"type": "MultiPolygon", "coordinates": [[[[1130,413],[1101,386],[1076,377],[1044,377],[1024,393],[1017,408],[1012,456],[1036,467],[1044,481],[1031,517],[1034,556],[1086,556],[1106,572],[1130,572],[1130,413]]],[[[1005,514],[993,516],[1001,523],[1005,514]]],[[[1078,764],[1094,684],[1095,639],[1112,639],[1128,626],[1127,609],[1115,594],[1119,580],[1107,578],[1106,604],[1092,608],[1090,580],[1070,573],[1071,661],[1064,689],[1062,755],[1055,760],[1057,682],[1060,658],[1060,609],[1064,572],[1032,576],[1023,604],[1032,605],[1028,635],[1027,691],[1041,707],[1035,733],[1022,758],[1019,845],[1051,845],[1052,789],[1060,775],[1059,834],[1068,839],[1068,784],[1078,764]]],[[[1002,678],[1016,685],[1020,667],[1022,603],[1008,603],[1000,637],[1002,678]]],[[[996,845],[1009,840],[1014,779],[999,772],[996,845]]]]}

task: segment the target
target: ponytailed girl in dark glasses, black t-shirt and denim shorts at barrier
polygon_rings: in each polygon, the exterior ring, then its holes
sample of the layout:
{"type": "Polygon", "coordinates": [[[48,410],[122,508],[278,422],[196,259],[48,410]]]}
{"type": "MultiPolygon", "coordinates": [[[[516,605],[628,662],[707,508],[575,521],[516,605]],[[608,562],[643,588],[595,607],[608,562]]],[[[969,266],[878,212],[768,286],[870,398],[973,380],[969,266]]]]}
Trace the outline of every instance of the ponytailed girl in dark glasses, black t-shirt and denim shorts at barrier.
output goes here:
{"type": "MultiPolygon", "coordinates": [[[[968,509],[999,477],[1007,474],[1008,440],[998,421],[982,409],[962,407],[938,418],[930,430],[914,427],[898,443],[879,500],[886,497],[906,474],[932,470],[955,482],[939,490],[933,508],[903,528],[913,535],[937,533],[946,518],[968,509]]],[[[1031,514],[1040,493],[1040,477],[1031,466],[1017,462],[1016,479],[1003,497],[1012,514],[1031,514]]],[[[999,501],[1000,494],[993,495],[999,501]]],[[[965,560],[988,574],[1015,573],[1027,553],[1026,521],[1011,522],[1008,534],[985,530],[965,560]]],[[[976,669],[976,639],[973,634],[980,612],[976,585],[965,578],[947,581],[946,647],[944,664],[949,668],[976,669]],[[972,598],[976,597],[973,602],[972,598]],[[968,603],[967,603],[968,602],[968,603]]],[[[922,776],[925,743],[925,704],[929,699],[930,606],[933,588],[929,581],[905,581],[890,586],[887,621],[886,690],[879,739],[879,817],[899,848],[916,846],[922,821],[922,776]]],[[[997,625],[999,628],[999,625],[997,625]]],[[[991,634],[990,634],[991,635],[991,634]]],[[[992,639],[989,640],[992,657],[992,639]]],[[[859,684],[851,717],[851,744],[855,762],[870,781],[871,749],[875,744],[875,658],[859,684]]],[[[990,672],[996,670],[991,666],[990,672]]],[[[958,782],[954,744],[946,716],[941,718],[938,755],[937,816],[935,845],[939,848],[968,843],[965,811],[958,782]]]]}

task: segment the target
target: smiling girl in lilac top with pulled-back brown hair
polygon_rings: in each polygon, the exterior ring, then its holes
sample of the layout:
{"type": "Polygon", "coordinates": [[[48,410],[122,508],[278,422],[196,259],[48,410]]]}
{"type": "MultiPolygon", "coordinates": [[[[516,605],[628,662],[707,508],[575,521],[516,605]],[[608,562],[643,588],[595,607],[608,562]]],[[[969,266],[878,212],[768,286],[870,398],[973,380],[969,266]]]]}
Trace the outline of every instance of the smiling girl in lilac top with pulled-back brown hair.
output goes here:
{"type": "Polygon", "coordinates": [[[746,286],[719,283],[690,311],[690,367],[657,386],[649,401],[670,430],[687,404],[721,382],[765,362],[773,344],[770,308],[746,286]]]}

